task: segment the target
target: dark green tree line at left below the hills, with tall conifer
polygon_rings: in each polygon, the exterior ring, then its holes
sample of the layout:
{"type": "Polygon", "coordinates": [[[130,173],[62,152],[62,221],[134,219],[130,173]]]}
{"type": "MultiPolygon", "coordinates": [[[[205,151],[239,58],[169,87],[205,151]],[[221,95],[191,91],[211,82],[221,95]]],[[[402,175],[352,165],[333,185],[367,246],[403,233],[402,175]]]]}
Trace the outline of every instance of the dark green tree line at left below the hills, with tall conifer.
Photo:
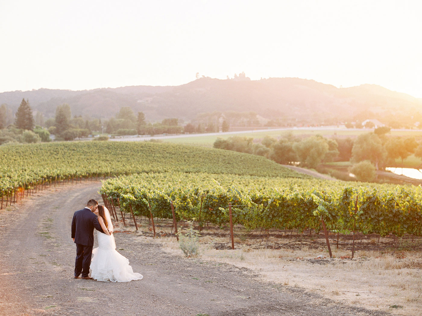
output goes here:
{"type": "MultiPolygon", "coordinates": [[[[55,115],[45,119],[41,112],[32,113],[29,100],[22,99],[13,114],[6,104],[0,106],[0,145],[14,142],[49,142],[51,135],[57,141],[86,138],[92,135],[157,135],[181,133],[206,133],[229,130],[229,123],[198,121],[181,126],[177,118],[165,118],[161,122],[146,122],[143,112],[135,114],[130,107],[122,107],[115,117],[82,118],[72,116],[69,104],[58,105],[55,115]]],[[[101,139],[108,139],[107,136],[101,139]]]]}

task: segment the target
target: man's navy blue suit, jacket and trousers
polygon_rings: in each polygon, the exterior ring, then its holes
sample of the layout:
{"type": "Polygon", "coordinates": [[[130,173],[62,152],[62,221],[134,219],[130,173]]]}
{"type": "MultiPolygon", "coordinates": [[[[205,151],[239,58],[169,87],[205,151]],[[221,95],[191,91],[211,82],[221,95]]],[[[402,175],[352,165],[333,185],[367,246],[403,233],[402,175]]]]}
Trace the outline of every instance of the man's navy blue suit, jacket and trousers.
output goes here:
{"type": "Polygon", "coordinates": [[[76,211],[72,219],[72,238],[75,238],[76,261],[75,276],[89,274],[92,247],[94,246],[94,228],[103,233],[98,217],[87,207],[76,211]]]}

